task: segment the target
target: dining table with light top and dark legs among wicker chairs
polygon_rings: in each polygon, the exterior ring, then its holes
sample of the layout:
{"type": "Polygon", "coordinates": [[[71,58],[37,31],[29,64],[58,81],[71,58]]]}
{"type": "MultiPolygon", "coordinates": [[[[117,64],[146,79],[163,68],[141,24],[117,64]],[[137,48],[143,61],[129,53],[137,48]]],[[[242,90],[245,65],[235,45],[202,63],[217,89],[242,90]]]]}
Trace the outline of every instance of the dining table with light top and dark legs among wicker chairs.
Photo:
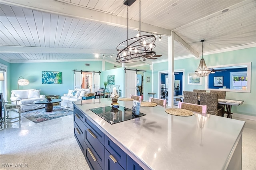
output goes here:
{"type": "MultiPolygon", "coordinates": [[[[184,102],[184,96],[183,95],[178,95],[178,96],[174,96],[174,99],[180,99],[180,101],[184,102]]],[[[198,97],[198,100],[200,100],[200,98],[198,97]]],[[[243,100],[234,100],[234,99],[218,99],[218,104],[222,104],[225,105],[226,107],[226,113],[227,118],[231,118],[232,119],[232,106],[240,106],[243,104],[243,100]]]]}

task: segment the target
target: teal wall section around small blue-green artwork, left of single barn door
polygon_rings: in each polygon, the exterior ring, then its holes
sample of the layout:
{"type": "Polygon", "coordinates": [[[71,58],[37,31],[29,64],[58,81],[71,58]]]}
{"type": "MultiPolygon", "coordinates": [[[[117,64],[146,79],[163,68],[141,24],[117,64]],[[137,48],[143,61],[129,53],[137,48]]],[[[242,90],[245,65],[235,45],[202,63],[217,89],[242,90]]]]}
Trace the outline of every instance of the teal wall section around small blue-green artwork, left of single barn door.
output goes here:
{"type": "MultiPolygon", "coordinates": [[[[104,81],[108,81],[108,75],[115,75],[114,85],[120,85],[120,97],[124,97],[124,68],[120,67],[117,69],[102,71],[102,73],[100,73],[100,87],[104,87],[103,83],[104,81]]],[[[109,85],[107,85],[107,88],[110,89],[109,85]]]]}

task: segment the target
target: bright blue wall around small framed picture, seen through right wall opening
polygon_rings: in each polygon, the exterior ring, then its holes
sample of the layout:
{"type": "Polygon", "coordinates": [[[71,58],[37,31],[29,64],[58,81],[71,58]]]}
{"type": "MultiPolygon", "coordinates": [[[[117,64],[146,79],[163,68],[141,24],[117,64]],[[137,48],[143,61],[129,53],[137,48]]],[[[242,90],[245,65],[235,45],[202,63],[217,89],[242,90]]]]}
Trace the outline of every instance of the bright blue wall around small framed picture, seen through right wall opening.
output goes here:
{"type": "Polygon", "coordinates": [[[213,74],[209,74],[209,89],[219,89],[222,86],[214,86],[214,77],[223,76],[223,86],[226,86],[227,89],[230,89],[230,72],[237,72],[237,71],[247,71],[247,68],[240,68],[240,69],[227,69],[227,71],[215,72],[213,74]]]}

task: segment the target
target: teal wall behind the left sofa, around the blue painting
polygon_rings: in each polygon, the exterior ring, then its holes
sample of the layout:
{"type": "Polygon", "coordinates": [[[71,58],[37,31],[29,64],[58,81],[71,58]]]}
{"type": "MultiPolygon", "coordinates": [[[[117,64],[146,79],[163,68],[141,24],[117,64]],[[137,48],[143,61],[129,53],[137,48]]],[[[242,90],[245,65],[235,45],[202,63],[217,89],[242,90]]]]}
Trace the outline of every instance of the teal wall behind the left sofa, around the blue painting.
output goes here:
{"type": "MultiPolygon", "coordinates": [[[[1,63],[3,63],[1,61],[1,63]]],[[[4,63],[3,63],[4,64],[4,63]]],[[[19,89],[41,89],[43,95],[60,95],[74,89],[74,69],[82,71],[102,71],[102,61],[74,61],[74,62],[47,62],[47,63],[9,63],[8,66],[8,99],[11,90],[17,89],[18,77],[30,81],[27,86],[19,89]],[[90,66],[85,66],[89,63],[90,66]],[[61,71],[62,84],[42,84],[42,71],[61,71]]]]}

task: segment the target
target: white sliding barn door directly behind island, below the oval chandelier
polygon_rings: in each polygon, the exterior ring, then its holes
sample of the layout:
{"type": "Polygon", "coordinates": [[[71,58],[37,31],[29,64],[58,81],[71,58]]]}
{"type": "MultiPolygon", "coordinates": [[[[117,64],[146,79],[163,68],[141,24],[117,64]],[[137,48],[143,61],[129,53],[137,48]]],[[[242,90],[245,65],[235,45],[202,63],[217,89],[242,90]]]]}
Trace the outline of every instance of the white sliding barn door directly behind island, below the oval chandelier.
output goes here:
{"type": "Polygon", "coordinates": [[[137,95],[137,74],[136,71],[126,70],[125,73],[125,97],[137,95]]]}

